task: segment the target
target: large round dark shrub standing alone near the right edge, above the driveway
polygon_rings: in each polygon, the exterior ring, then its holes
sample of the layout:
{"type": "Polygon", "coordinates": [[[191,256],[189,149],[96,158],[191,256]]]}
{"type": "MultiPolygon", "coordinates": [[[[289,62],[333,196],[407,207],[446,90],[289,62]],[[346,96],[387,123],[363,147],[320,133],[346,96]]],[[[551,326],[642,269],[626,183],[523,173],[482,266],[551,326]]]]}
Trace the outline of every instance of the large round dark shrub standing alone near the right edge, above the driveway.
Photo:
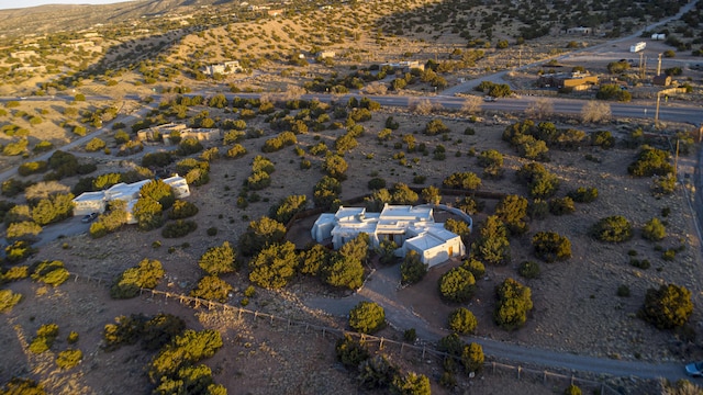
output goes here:
{"type": "Polygon", "coordinates": [[[683,326],[692,313],[691,291],[667,284],[647,290],[640,316],[659,329],[673,329],[683,326]]]}

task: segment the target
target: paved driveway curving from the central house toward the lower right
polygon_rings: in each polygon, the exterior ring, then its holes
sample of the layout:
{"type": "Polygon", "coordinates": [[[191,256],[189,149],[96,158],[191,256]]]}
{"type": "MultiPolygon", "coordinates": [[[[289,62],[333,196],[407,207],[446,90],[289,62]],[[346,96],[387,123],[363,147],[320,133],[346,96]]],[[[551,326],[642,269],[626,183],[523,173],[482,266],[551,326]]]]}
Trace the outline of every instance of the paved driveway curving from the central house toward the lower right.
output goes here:
{"type": "MultiPolygon", "coordinates": [[[[432,327],[425,319],[400,303],[397,298],[399,284],[400,269],[398,266],[381,268],[376,270],[364,287],[352,296],[344,298],[315,296],[303,301],[303,303],[308,307],[345,317],[359,302],[371,301],[383,307],[386,318],[391,326],[400,330],[415,328],[419,338],[423,340],[436,342],[450,334],[446,329],[432,327]]],[[[665,377],[670,381],[687,379],[683,365],[680,363],[649,363],[578,356],[479,337],[465,337],[465,340],[480,343],[487,356],[514,363],[567,369],[615,377],[636,376],[651,380],[665,377]]]]}

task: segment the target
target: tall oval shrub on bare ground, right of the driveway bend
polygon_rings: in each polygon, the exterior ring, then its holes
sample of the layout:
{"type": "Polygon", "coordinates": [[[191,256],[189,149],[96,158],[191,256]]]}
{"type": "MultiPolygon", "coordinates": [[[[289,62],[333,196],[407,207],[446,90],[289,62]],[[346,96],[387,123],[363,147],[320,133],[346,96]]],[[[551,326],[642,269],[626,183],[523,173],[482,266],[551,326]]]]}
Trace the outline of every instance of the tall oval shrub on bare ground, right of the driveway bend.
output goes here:
{"type": "Polygon", "coordinates": [[[532,291],[513,279],[505,279],[495,287],[498,303],[493,312],[495,324],[503,329],[522,327],[532,309],[532,291]]]}

